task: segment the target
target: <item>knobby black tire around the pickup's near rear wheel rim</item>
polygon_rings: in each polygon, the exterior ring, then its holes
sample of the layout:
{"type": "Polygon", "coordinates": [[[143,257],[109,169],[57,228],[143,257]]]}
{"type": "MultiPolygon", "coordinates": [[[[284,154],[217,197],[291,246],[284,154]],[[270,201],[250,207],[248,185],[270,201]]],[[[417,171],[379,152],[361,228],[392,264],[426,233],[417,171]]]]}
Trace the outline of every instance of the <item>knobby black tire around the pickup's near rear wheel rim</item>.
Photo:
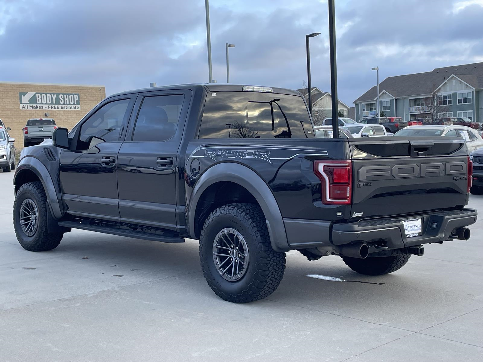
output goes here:
{"type": "Polygon", "coordinates": [[[284,277],[285,253],[272,249],[265,216],[253,204],[229,204],[210,214],[201,230],[199,259],[203,276],[213,292],[232,303],[266,298],[277,289],[284,277]],[[227,227],[240,232],[248,246],[248,267],[237,281],[223,278],[213,261],[215,237],[227,227]]]}

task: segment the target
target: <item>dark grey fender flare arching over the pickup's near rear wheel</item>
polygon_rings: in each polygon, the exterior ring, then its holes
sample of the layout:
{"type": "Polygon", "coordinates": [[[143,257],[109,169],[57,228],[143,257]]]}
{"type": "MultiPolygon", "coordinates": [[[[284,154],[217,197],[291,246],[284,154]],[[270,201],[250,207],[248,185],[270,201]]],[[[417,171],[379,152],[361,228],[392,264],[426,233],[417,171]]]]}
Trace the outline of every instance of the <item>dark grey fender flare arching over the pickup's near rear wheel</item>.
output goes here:
{"type": "Polygon", "coordinates": [[[273,250],[278,252],[289,251],[290,247],[287,241],[282,213],[270,187],[252,169],[236,163],[224,162],[214,165],[207,169],[196,182],[188,201],[187,219],[189,234],[192,237],[195,236],[195,212],[199,198],[210,185],[220,181],[237,183],[255,197],[267,220],[267,228],[273,250]]]}

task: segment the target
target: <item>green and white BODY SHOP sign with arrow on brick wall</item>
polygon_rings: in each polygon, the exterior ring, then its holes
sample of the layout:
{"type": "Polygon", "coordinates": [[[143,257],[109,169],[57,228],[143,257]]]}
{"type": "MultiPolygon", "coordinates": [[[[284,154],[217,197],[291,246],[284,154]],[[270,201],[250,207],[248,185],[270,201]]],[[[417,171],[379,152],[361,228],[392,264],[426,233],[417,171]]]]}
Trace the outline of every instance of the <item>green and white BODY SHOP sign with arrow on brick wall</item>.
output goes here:
{"type": "Polygon", "coordinates": [[[81,109],[78,93],[19,92],[21,110],[77,111],[81,109]]]}

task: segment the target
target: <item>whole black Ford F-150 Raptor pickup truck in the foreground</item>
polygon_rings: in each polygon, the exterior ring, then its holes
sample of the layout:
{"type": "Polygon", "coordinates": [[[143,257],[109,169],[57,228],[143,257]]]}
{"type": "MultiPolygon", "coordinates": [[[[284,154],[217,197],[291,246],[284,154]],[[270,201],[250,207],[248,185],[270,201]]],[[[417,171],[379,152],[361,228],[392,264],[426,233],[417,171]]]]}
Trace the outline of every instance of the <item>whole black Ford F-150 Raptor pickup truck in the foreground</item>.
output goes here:
{"type": "Polygon", "coordinates": [[[290,250],[382,275],[424,244],[468,239],[471,165],[458,138],[317,139],[293,90],[148,88],[22,151],[14,228],[29,251],[71,228],[199,239],[210,287],[243,303],[275,291],[290,250]]]}

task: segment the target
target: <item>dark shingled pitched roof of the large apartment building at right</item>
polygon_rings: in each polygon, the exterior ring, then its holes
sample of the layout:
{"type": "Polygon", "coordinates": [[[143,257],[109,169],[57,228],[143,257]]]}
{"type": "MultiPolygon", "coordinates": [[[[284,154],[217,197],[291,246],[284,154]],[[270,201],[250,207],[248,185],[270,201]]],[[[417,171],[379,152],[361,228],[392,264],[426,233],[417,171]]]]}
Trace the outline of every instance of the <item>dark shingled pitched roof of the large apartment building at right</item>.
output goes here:
{"type": "MultiPolygon", "coordinates": [[[[483,63],[471,63],[436,68],[424,73],[388,77],[379,84],[379,91],[385,90],[394,97],[430,94],[453,74],[475,89],[483,88],[483,63]]],[[[366,93],[358,97],[354,103],[374,100],[376,97],[377,90],[374,85],[366,93]]]]}

